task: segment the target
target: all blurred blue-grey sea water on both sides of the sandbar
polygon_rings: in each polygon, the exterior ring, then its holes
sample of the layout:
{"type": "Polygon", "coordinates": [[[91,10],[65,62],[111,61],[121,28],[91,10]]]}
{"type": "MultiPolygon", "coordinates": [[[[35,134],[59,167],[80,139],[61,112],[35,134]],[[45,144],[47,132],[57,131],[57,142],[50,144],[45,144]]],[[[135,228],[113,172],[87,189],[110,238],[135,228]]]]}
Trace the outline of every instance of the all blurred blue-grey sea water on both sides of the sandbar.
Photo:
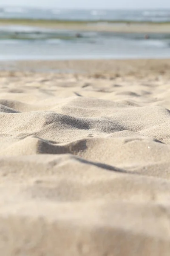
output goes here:
{"type": "MultiPolygon", "coordinates": [[[[0,6],[1,19],[170,22],[170,9],[68,10],[0,6]]],[[[108,23],[111,26],[111,23],[108,23]]],[[[0,60],[170,58],[170,33],[85,32],[0,25],[0,60]],[[76,36],[81,35],[81,36],[76,36]]]]}

